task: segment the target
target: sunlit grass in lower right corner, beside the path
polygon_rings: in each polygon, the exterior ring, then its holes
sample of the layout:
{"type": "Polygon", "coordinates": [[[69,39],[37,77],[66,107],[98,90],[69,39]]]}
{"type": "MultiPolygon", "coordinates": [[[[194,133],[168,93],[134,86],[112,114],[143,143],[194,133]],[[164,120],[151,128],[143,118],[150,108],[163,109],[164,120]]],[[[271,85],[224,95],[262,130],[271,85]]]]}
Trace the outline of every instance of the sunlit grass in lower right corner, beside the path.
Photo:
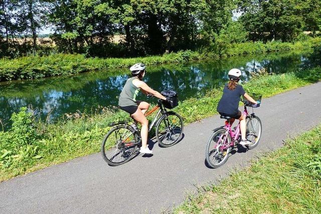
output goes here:
{"type": "Polygon", "coordinates": [[[174,213],[321,213],[321,126],[190,195],[174,213]]]}

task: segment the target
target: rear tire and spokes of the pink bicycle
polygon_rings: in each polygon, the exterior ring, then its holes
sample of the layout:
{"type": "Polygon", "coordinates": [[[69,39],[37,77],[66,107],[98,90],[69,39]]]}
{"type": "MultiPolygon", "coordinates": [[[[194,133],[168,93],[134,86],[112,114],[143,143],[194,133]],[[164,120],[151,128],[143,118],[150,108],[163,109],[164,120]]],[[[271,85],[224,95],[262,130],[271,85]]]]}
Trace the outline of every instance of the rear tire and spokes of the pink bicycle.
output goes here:
{"type": "MultiPolygon", "coordinates": [[[[223,137],[224,139],[224,137],[223,137]]],[[[224,129],[224,128],[217,128],[214,130],[213,134],[211,135],[211,137],[209,138],[207,145],[206,145],[206,162],[208,163],[209,166],[211,166],[212,168],[218,168],[220,166],[222,166],[227,159],[229,158],[229,153],[231,151],[231,147],[228,147],[225,151],[218,151],[219,147],[218,146],[222,146],[222,145],[228,145],[231,142],[231,136],[229,134],[229,132],[224,129]],[[221,142],[217,142],[218,140],[222,139],[221,135],[222,134],[226,134],[227,137],[225,138],[225,142],[221,143],[221,142]],[[227,141],[227,142],[226,142],[227,141]],[[214,143],[214,148],[211,149],[211,144],[214,143]],[[224,154],[224,157],[221,161],[214,162],[213,158],[216,158],[220,155],[220,153],[224,154]],[[213,157],[213,158],[212,158],[213,157]]]]}

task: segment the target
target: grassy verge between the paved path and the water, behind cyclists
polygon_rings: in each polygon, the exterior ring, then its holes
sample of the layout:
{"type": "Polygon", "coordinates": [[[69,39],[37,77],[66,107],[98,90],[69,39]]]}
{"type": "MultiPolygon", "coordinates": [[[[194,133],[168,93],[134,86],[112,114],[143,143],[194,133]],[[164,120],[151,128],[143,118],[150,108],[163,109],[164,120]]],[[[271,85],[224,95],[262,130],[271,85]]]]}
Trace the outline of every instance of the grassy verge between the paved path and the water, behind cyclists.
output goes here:
{"type": "MultiPolygon", "coordinates": [[[[260,75],[244,84],[244,88],[269,97],[316,82],[320,73],[318,67],[282,75],[260,75]]],[[[213,89],[202,98],[180,102],[174,110],[187,125],[216,114],[221,95],[222,89],[213,89]]],[[[104,108],[89,115],[75,113],[55,124],[33,121],[30,128],[26,119],[21,119],[28,116],[22,116],[16,117],[15,128],[0,132],[0,181],[98,152],[104,134],[110,129],[108,123],[128,118],[123,111],[104,108]]]]}

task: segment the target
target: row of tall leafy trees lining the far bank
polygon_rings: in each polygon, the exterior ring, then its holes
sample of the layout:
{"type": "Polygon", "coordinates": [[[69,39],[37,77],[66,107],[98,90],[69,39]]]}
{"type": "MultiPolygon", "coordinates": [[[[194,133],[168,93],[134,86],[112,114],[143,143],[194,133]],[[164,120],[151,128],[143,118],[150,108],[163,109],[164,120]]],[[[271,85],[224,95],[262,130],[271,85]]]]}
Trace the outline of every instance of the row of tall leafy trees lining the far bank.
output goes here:
{"type": "Polygon", "coordinates": [[[48,28],[59,52],[92,57],[157,55],[218,47],[220,41],[293,41],[302,31],[320,31],[320,5],[321,0],[2,0],[0,56],[41,49],[38,33],[48,28]],[[236,11],[238,21],[232,19],[236,11]]]}

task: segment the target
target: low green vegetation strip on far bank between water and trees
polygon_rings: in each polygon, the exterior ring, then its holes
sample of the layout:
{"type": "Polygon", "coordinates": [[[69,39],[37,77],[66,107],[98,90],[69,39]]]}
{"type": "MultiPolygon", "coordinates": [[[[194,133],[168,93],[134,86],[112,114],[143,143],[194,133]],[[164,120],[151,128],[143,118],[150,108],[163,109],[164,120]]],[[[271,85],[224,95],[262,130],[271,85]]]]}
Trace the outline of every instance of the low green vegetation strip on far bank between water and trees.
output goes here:
{"type": "Polygon", "coordinates": [[[167,63],[186,63],[189,61],[217,60],[220,58],[247,54],[264,54],[273,52],[304,51],[321,43],[321,38],[310,38],[303,42],[248,42],[230,44],[220,50],[220,53],[209,51],[192,52],[180,51],[178,53],[164,54],[163,56],[150,56],[141,58],[85,58],[82,55],[54,54],[47,57],[31,56],[13,60],[0,60],[0,82],[22,79],[39,79],[51,76],[68,76],[88,71],[103,71],[115,68],[127,68],[137,62],[146,65],[159,65],[167,63]]]}

